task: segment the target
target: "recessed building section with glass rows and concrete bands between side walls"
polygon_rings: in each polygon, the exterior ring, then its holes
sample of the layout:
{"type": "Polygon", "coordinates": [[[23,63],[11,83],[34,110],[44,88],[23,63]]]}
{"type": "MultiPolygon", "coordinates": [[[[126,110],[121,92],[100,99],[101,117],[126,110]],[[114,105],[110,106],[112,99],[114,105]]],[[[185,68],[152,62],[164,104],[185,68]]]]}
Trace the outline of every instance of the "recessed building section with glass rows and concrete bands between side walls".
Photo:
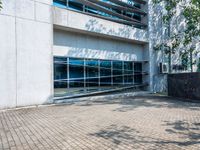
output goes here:
{"type": "Polygon", "coordinates": [[[55,97],[148,89],[145,1],[53,4],[55,97]]]}

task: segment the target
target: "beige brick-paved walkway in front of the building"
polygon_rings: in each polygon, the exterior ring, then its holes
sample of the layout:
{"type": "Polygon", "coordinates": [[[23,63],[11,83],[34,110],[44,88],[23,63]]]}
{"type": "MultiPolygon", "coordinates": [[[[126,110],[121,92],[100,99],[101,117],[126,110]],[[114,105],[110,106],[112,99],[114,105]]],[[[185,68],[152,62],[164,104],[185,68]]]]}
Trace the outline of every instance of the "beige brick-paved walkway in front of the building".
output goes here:
{"type": "Polygon", "coordinates": [[[127,97],[0,112],[0,149],[200,149],[200,103],[127,97]]]}

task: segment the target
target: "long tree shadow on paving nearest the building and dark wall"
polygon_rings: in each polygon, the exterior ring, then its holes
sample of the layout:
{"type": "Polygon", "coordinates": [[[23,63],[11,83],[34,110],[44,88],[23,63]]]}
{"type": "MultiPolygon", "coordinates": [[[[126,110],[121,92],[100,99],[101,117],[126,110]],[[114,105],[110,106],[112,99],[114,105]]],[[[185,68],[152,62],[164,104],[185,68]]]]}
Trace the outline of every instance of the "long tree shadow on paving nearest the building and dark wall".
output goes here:
{"type": "Polygon", "coordinates": [[[154,108],[182,108],[190,110],[200,110],[200,103],[190,102],[184,99],[171,98],[167,96],[126,96],[119,98],[100,98],[98,100],[88,100],[78,103],[79,106],[93,106],[93,105],[119,105],[113,111],[126,112],[141,107],[154,108]]]}

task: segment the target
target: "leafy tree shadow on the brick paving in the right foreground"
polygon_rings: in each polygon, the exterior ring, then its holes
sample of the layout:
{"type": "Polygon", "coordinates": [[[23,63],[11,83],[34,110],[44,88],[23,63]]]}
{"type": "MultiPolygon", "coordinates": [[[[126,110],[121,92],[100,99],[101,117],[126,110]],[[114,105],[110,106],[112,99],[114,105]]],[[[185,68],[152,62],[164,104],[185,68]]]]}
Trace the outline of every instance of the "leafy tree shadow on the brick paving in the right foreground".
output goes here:
{"type": "MultiPolygon", "coordinates": [[[[127,144],[127,145],[143,145],[143,144],[150,144],[158,147],[168,147],[168,145],[174,145],[178,147],[184,146],[192,146],[192,145],[199,145],[200,144],[200,134],[190,131],[191,128],[183,127],[181,121],[177,121],[175,123],[167,123],[166,126],[170,127],[173,126],[173,131],[169,131],[166,129],[167,133],[172,134],[179,134],[179,139],[165,139],[159,136],[152,137],[144,136],[142,133],[140,134],[139,131],[130,128],[128,126],[117,126],[111,125],[107,128],[99,130],[96,133],[90,134],[90,136],[95,136],[97,138],[103,138],[112,142],[113,144],[120,145],[120,144],[127,144]]],[[[197,128],[195,128],[196,130],[197,128]]],[[[198,125],[199,129],[199,125],[198,125]]],[[[193,129],[192,129],[193,130],[193,129]]],[[[175,148],[175,147],[174,147],[175,148]]]]}

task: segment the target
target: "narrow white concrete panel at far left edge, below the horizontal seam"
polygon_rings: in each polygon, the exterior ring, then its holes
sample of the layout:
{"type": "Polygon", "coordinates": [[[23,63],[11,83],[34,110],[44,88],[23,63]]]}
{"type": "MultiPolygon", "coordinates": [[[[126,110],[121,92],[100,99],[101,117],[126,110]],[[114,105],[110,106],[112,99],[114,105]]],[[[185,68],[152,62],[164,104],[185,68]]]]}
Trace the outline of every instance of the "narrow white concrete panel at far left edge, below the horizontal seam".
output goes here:
{"type": "Polygon", "coordinates": [[[0,108],[16,107],[15,18],[0,15],[0,108]]]}

